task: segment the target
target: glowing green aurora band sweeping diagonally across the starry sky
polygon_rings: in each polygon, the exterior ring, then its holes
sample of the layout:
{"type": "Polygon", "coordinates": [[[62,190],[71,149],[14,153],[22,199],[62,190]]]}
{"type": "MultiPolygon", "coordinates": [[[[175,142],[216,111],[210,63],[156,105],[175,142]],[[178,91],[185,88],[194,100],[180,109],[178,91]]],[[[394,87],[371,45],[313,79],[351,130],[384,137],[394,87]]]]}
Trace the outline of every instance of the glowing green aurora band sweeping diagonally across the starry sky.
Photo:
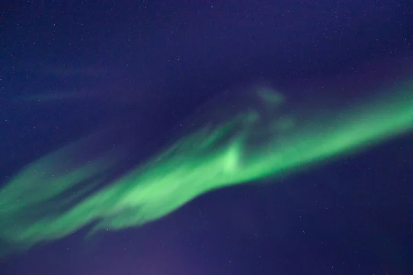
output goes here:
{"type": "Polygon", "coordinates": [[[412,85],[330,109],[287,104],[265,86],[252,90],[206,105],[180,138],[109,184],[125,157],[118,151],[82,163],[85,148],[74,142],[29,164],[0,189],[0,246],[7,247],[0,252],[86,225],[91,232],[144,225],[210,190],[297,173],[413,129],[412,85]],[[79,185],[88,189],[73,191],[79,185]]]}

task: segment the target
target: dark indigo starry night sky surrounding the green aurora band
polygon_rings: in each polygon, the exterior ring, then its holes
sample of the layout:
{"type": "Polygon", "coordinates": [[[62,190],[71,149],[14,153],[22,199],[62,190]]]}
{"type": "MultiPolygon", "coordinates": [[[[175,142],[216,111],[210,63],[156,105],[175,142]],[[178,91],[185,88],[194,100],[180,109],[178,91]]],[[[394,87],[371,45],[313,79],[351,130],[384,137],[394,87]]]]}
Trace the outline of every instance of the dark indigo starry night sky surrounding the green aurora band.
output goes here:
{"type": "MultiPolygon", "coordinates": [[[[99,126],[139,140],[134,165],[240,83],[346,102],[412,80],[408,0],[4,2],[0,187],[99,126]]],[[[413,274],[412,138],[215,190],[141,228],[80,230],[0,259],[0,274],[413,274]]]]}

